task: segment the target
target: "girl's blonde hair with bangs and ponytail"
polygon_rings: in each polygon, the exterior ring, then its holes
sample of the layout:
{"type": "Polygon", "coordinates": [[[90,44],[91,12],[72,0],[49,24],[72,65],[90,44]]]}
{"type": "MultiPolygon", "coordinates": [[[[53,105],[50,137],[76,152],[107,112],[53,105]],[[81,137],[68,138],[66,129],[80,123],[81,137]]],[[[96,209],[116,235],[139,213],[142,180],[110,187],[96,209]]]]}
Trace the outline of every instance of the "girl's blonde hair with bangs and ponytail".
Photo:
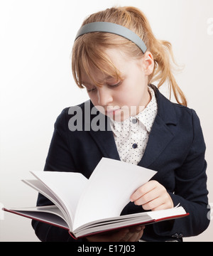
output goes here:
{"type": "MultiPolygon", "coordinates": [[[[187,106],[185,95],[180,90],[172,73],[171,60],[173,60],[173,63],[175,63],[175,60],[171,44],[168,41],[155,38],[151,26],[142,11],[131,6],[114,7],[92,14],[85,19],[82,26],[97,21],[116,23],[136,33],[146,44],[147,50],[153,55],[154,69],[148,78],[148,83],[158,81],[159,88],[167,80],[170,96],[173,91],[175,100],[180,105],[187,106]]],[[[102,32],[84,34],[77,38],[72,48],[72,74],[79,87],[83,87],[82,72],[86,73],[95,85],[100,85],[91,75],[90,71],[94,67],[107,76],[110,75],[118,80],[121,79],[119,70],[111,62],[107,54],[104,53],[104,49],[107,48],[123,50],[131,58],[141,58],[143,55],[143,52],[135,43],[121,36],[102,32]]]]}

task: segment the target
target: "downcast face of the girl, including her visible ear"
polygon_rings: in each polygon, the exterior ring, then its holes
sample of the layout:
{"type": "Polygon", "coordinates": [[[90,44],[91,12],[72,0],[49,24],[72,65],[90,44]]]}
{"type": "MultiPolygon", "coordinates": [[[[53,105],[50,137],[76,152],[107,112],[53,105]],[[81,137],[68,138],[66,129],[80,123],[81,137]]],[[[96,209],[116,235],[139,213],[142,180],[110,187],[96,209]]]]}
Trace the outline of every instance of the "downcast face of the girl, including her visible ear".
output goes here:
{"type": "Polygon", "coordinates": [[[92,77],[102,84],[97,87],[82,74],[82,84],[93,105],[115,121],[124,121],[141,112],[151,97],[148,93],[148,75],[153,72],[153,56],[146,52],[140,59],[130,59],[116,49],[106,50],[112,63],[121,73],[121,80],[106,77],[99,70],[92,70],[92,77]]]}

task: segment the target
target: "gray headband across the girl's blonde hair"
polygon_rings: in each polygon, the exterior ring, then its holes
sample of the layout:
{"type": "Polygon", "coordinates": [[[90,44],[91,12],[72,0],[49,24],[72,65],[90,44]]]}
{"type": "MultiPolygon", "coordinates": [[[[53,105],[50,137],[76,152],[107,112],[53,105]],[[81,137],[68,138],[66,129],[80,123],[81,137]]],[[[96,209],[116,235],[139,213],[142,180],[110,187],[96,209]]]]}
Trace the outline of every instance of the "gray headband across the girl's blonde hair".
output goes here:
{"type": "Polygon", "coordinates": [[[85,33],[90,32],[114,33],[118,36],[123,36],[124,38],[129,39],[135,43],[143,53],[145,53],[147,50],[145,43],[138,35],[136,35],[136,33],[131,31],[129,28],[110,22],[92,22],[82,26],[77,32],[75,40],[85,33]]]}

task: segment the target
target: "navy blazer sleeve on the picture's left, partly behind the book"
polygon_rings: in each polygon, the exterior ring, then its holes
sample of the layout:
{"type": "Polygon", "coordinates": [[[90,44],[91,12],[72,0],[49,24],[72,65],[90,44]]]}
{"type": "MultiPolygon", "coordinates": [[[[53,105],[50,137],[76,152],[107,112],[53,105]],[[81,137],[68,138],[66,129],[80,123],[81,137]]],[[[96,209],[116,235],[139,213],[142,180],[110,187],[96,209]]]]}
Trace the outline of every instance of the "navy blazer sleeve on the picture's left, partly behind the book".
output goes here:
{"type": "MultiPolygon", "coordinates": [[[[65,111],[63,110],[55,122],[53,138],[50,143],[50,149],[45,162],[44,171],[76,171],[74,161],[69,151],[67,139],[67,121],[65,111]]],[[[38,194],[37,206],[53,205],[48,198],[38,194]]],[[[75,242],[67,230],[48,225],[40,221],[32,221],[35,235],[43,242],[75,242]]]]}

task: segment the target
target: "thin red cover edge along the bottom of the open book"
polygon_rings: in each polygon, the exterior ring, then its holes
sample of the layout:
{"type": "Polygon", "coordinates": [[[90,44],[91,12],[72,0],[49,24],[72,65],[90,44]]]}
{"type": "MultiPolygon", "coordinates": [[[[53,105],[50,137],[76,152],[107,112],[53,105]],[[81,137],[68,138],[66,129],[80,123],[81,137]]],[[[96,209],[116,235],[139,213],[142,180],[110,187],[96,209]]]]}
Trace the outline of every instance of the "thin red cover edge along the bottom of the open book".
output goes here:
{"type": "Polygon", "coordinates": [[[82,236],[76,238],[75,235],[69,230],[69,228],[65,228],[64,226],[57,225],[55,223],[50,223],[50,222],[45,221],[45,220],[40,220],[38,218],[33,218],[33,217],[28,216],[28,215],[25,215],[25,214],[22,214],[22,213],[18,213],[15,210],[9,210],[9,209],[6,209],[6,208],[2,208],[2,210],[5,210],[6,212],[14,213],[16,215],[20,215],[20,216],[23,216],[23,217],[26,217],[26,218],[29,218],[29,219],[32,219],[32,220],[38,220],[38,221],[46,223],[46,224],[54,225],[55,227],[58,227],[58,228],[63,228],[65,230],[68,230],[68,233],[75,240],[80,239],[80,238],[89,237],[89,236],[92,236],[92,235],[97,235],[97,234],[100,234],[100,233],[112,232],[114,230],[119,230],[121,228],[129,228],[129,227],[133,227],[133,226],[136,226],[136,225],[148,225],[148,224],[158,223],[158,222],[163,221],[163,220],[173,220],[173,219],[182,218],[182,217],[185,217],[187,215],[190,215],[190,213],[185,213],[185,214],[182,214],[182,215],[173,215],[173,216],[170,216],[170,217],[159,218],[159,219],[155,219],[155,220],[149,220],[149,221],[146,221],[146,222],[143,222],[143,223],[136,223],[136,224],[131,224],[131,225],[124,225],[124,226],[118,227],[118,228],[110,228],[108,230],[101,230],[101,231],[97,231],[97,232],[90,233],[90,234],[87,234],[87,235],[82,235],[82,236]]]}

